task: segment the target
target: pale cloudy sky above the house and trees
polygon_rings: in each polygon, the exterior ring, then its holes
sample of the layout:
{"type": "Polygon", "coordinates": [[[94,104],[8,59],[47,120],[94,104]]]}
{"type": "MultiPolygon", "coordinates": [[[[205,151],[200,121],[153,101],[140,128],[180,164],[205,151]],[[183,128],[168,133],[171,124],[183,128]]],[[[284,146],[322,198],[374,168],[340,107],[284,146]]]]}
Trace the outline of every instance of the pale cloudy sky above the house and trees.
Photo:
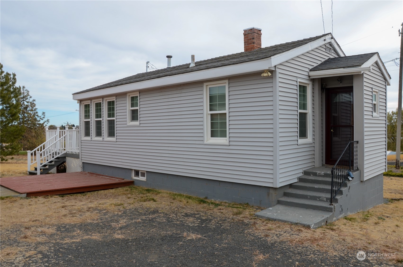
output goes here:
{"type": "MultiPolygon", "coordinates": [[[[262,46],[332,32],[345,54],[399,57],[402,1],[0,1],[0,60],[50,124],[78,124],[72,93],[145,71],[243,51],[243,29],[262,46]],[[333,8],[331,8],[333,4],[333,8]],[[333,17],[333,23],[332,23],[333,17]],[[323,27],[325,29],[323,29],[323,27]],[[66,114],[69,113],[69,114],[66,114]],[[62,115],[66,114],[66,115],[62,115]]],[[[397,107],[399,67],[388,108],[397,107]]]]}

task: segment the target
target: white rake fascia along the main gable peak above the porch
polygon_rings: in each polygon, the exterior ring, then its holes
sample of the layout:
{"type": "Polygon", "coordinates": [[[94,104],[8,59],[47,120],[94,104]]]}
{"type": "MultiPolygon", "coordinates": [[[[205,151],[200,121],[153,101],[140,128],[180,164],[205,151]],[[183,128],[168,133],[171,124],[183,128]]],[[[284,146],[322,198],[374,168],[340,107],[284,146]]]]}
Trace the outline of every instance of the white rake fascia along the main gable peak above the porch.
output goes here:
{"type": "MultiPolygon", "coordinates": [[[[341,50],[339,48],[339,46],[336,44],[336,42],[334,42],[334,39],[332,39],[332,35],[328,34],[318,40],[312,41],[308,44],[305,44],[303,46],[299,46],[297,48],[293,48],[291,50],[288,50],[286,52],[280,53],[280,54],[276,54],[274,56],[271,57],[271,64],[272,66],[275,66],[277,64],[283,63],[287,60],[290,60],[291,58],[295,58],[296,56],[299,56],[303,53],[306,53],[310,50],[313,50],[319,46],[322,46],[324,44],[328,44],[329,42],[332,43],[332,45],[334,46],[335,50],[337,51],[337,53],[340,56],[345,56],[345,54],[343,53],[343,50],[341,50]],[[330,41],[329,41],[330,40],[330,41]]],[[[330,57],[330,56],[329,56],[330,57]]]]}

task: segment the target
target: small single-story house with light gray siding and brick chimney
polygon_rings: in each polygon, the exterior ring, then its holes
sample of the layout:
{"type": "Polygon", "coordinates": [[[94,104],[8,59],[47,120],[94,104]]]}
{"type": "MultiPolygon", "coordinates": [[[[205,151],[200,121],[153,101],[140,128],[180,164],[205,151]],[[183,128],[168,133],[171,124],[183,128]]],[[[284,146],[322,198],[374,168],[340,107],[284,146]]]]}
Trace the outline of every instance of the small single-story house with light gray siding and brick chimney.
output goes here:
{"type": "Polygon", "coordinates": [[[166,69],[73,94],[83,171],[320,211],[320,223],[381,204],[390,76],[379,54],[346,56],[331,33],[262,48],[261,34],[244,30],[244,52],[173,67],[167,56],[166,69]]]}

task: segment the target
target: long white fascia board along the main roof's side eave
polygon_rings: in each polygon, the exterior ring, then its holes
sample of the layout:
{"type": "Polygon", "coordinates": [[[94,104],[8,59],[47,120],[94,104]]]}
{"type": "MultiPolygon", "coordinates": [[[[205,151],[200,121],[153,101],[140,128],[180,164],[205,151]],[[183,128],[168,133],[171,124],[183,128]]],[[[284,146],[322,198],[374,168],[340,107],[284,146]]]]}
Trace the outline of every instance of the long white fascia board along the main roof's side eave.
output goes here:
{"type": "Polygon", "coordinates": [[[146,89],[161,88],[185,83],[194,83],[198,81],[214,80],[222,77],[229,77],[239,74],[244,75],[248,73],[256,73],[258,71],[264,71],[265,69],[274,70],[275,68],[272,67],[272,65],[270,64],[271,64],[270,58],[264,58],[245,63],[217,67],[213,69],[192,71],[189,73],[181,73],[177,75],[160,77],[151,80],[137,81],[134,83],[123,84],[120,86],[82,92],[79,94],[73,94],[73,99],[84,100],[84,99],[98,98],[100,96],[110,96],[110,95],[116,96],[118,94],[125,94],[129,92],[136,92],[146,89]]]}

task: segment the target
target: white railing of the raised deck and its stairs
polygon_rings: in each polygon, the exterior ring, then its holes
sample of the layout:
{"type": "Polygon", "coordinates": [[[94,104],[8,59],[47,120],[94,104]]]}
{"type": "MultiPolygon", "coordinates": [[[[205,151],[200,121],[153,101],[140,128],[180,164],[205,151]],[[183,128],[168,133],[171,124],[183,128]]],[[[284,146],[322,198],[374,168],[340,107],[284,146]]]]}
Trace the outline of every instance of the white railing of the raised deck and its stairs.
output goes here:
{"type": "Polygon", "coordinates": [[[49,130],[46,127],[46,141],[34,150],[28,150],[27,171],[31,170],[31,166],[37,167],[37,175],[40,174],[42,166],[49,161],[56,159],[65,152],[80,152],[79,147],[79,130],[66,129],[60,130],[58,126],[56,130],[49,130]]]}

